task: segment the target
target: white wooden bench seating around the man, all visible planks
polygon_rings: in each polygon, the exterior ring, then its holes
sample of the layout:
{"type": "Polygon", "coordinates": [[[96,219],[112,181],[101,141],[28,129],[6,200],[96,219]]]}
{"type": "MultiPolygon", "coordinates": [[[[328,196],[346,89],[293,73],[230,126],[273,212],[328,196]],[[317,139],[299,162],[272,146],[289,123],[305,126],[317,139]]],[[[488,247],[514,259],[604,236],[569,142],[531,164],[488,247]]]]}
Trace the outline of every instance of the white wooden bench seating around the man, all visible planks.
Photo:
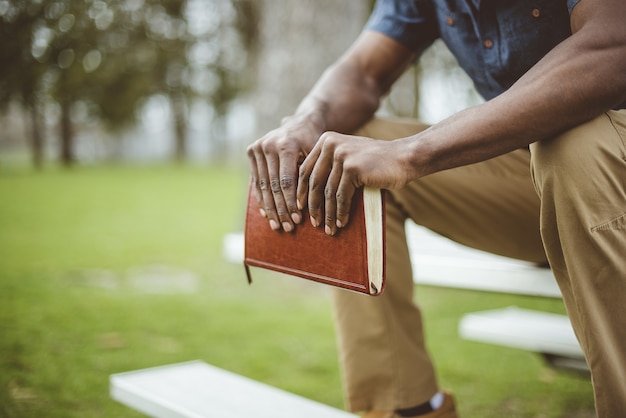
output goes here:
{"type": "MultiPolygon", "coordinates": [[[[431,286],[560,298],[551,271],[476,251],[407,223],[414,281],[431,286]]],[[[243,262],[243,234],[224,237],[224,257],[243,262]]],[[[555,367],[587,370],[565,315],[505,307],[459,323],[468,340],[539,353],[555,367]]],[[[158,418],[354,418],[352,415],[201,361],[112,375],[113,399],[158,418]]]]}

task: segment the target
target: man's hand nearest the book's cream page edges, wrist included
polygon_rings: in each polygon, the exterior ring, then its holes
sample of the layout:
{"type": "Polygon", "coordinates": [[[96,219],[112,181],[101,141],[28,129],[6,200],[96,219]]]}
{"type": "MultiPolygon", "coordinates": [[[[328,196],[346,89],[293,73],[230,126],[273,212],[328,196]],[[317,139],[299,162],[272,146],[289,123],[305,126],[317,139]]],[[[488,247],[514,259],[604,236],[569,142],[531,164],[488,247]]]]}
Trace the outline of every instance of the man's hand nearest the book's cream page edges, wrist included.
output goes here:
{"type": "Polygon", "coordinates": [[[334,235],[348,223],[358,187],[397,189],[412,180],[406,145],[402,139],[324,133],[300,166],[298,207],[308,203],[313,226],[324,223],[325,232],[334,235]]]}

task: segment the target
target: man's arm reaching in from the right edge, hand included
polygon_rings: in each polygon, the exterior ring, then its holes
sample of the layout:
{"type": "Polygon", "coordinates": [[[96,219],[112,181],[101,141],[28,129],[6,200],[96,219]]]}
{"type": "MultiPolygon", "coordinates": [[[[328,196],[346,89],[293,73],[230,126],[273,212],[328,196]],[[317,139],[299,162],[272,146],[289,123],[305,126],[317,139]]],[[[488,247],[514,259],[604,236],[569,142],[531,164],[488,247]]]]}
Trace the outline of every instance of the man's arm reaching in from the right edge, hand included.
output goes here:
{"type": "Polygon", "coordinates": [[[348,221],[356,187],[401,187],[553,137],[617,106],[626,101],[624,22],[623,0],[582,0],[571,15],[573,35],[497,98],[388,143],[324,134],[302,164],[299,201],[308,199],[313,223],[334,233],[348,221]]]}

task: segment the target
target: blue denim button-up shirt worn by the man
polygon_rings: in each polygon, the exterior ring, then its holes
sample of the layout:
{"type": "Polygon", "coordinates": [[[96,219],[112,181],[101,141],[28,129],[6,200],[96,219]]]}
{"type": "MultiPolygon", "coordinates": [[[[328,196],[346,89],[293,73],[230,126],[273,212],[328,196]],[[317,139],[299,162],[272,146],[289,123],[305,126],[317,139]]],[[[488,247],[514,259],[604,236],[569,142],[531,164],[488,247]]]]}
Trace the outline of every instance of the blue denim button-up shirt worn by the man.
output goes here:
{"type": "Polygon", "coordinates": [[[366,28],[418,54],[441,38],[491,99],[571,35],[580,0],[378,0],[366,28]]]}

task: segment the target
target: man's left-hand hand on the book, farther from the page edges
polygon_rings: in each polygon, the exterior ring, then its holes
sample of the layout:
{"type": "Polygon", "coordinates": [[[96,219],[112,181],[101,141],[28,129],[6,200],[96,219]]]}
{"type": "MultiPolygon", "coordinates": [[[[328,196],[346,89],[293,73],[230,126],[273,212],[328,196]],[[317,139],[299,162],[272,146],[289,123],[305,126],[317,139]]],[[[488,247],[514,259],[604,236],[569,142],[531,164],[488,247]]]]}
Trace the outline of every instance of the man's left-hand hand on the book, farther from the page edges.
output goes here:
{"type": "Polygon", "coordinates": [[[248,147],[251,181],[261,215],[270,227],[290,232],[302,215],[296,203],[298,163],[322,133],[311,119],[292,116],[248,147]]]}

